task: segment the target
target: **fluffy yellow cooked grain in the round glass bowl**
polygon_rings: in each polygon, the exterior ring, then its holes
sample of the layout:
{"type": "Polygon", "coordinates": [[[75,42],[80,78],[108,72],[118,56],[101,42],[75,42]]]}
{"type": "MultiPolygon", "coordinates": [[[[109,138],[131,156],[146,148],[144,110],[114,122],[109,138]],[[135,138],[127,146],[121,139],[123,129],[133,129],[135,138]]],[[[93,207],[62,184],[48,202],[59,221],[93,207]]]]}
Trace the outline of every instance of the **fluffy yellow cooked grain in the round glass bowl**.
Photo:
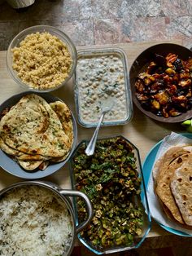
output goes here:
{"type": "Polygon", "coordinates": [[[47,32],[31,33],[11,49],[12,68],[22,82],[39,90],[56,88],[66,80],[72,68],[68,46],[47,32]]]}

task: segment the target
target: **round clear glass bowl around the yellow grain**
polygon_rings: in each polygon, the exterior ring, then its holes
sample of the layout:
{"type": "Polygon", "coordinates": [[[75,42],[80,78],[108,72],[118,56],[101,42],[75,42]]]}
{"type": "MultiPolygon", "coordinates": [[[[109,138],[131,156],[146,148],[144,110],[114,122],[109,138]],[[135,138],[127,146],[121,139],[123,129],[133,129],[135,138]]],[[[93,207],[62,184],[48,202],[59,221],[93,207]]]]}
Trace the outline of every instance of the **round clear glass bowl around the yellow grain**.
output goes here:
{"type": "Polygon", "coordinates": [[[76,55],[76,47],[74,46],[72,40],[68,37],[67,34],[63,33],[59,29],[56,29],[55,27],[47,26],[47,25],[37,25],[33,27],[29,27],[28,29],[24,29],[20,33],[18,33],[15,38],[11,41],[8,50],[7,50],[7,69],[9,73],[11,74],[11,77],[15,80],[17,84],[22,86],[25,90],[33,90],[33,91],[40,91],[40,92],[48,92],[52,90],[57,90],[59,87],[65,85],[68,80],[72,77],[75,69],[76,69],[76,60],[77,60],[77,55],[76,55]],[[24,38],[31,33],[43,33],[43,32],[48,32],[52,35],[55,35],[57,38],[59,38],[62,42],[64,42],[68,46],[68,51],[70,52],[70,55],[72,57],[72,68],[70,72],[68,73],[68,77],[59,85],[55,86],[53,88],[48,88],[48,89],[34,89],[28,84],[24,83],[20,77],[17,76],[17,73],[15,70],[12,68],[12,52],[11,49],[14,48],[15,46],[20,46],[20,42],[24,40],[24,38]]]}

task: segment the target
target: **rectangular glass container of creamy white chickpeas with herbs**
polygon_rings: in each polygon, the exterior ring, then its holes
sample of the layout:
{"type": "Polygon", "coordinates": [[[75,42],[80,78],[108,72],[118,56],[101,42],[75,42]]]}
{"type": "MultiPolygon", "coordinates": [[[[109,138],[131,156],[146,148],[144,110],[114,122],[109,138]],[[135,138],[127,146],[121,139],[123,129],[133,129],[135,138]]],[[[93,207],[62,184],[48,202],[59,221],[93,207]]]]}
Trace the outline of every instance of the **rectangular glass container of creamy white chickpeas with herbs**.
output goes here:
{"type": "Polygon", "coordinates": [[[81,126],[98,124],[106,99],[113,107],[102,126],[124,125],[133,116],[127,57],[120,48],[77,51],[75,79],[76,117],[81,126]]]}

